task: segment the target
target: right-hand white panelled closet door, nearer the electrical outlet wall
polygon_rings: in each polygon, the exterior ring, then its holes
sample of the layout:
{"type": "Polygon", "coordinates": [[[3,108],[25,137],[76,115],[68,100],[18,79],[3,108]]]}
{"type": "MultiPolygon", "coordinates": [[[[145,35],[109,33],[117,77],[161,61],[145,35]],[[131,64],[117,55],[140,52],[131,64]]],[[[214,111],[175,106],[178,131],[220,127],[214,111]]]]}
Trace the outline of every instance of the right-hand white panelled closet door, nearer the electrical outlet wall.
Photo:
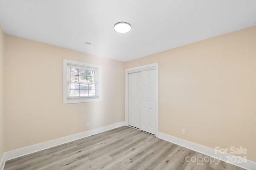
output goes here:
{"type": "Polygon", "coordinates": [[[156,134],[156,70],[140,72],[140,129],[156,134]]]}

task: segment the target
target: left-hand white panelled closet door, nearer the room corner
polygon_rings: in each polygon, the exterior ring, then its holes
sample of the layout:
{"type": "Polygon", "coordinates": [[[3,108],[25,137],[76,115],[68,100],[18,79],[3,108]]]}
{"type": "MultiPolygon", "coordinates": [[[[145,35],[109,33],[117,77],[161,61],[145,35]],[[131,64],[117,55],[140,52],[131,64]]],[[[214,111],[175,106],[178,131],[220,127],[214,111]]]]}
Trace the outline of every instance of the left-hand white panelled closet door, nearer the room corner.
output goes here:
{"type": "Polygon", "coordinates": [[[140,128],[140,72],[129,74],[129,125],[140,128]]]}

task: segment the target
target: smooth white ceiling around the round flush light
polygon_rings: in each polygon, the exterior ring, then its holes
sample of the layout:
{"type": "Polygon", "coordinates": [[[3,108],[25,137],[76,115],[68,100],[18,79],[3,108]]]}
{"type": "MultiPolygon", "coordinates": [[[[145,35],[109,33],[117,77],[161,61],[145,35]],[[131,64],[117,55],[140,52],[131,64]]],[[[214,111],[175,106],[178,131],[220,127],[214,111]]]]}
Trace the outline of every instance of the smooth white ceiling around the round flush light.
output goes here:
{"type": "Polygon", "coordinates": [[[0,0],[0,25],[6,34],[129,61],[256,25],[256,0],[0,0]],[[119,21],[132,30],[115,32],[119,21]]]}

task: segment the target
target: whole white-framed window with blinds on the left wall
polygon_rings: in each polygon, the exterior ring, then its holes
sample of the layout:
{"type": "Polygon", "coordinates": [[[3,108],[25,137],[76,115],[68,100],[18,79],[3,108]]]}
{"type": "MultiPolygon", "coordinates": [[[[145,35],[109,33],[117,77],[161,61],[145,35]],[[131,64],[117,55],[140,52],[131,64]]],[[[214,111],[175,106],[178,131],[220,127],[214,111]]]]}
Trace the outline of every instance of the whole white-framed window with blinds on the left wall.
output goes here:
{"type": "Polygon", "coordinates": [[[63,103],[101,101],[102,66],[63,60],[63,103]]]}

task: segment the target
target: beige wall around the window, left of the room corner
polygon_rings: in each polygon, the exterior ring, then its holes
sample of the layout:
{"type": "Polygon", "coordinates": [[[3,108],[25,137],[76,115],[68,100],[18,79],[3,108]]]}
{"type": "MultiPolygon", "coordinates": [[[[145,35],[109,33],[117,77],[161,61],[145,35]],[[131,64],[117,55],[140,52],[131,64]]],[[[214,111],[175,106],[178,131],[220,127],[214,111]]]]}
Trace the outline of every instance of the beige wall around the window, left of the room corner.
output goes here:
{"type": "Polygon", "coordinates": [[[124,62],[5,38],[5,151],[125,120],[124,62]],[[102,102],[62,104],[63,59],[102,65],[102,102]]]}

